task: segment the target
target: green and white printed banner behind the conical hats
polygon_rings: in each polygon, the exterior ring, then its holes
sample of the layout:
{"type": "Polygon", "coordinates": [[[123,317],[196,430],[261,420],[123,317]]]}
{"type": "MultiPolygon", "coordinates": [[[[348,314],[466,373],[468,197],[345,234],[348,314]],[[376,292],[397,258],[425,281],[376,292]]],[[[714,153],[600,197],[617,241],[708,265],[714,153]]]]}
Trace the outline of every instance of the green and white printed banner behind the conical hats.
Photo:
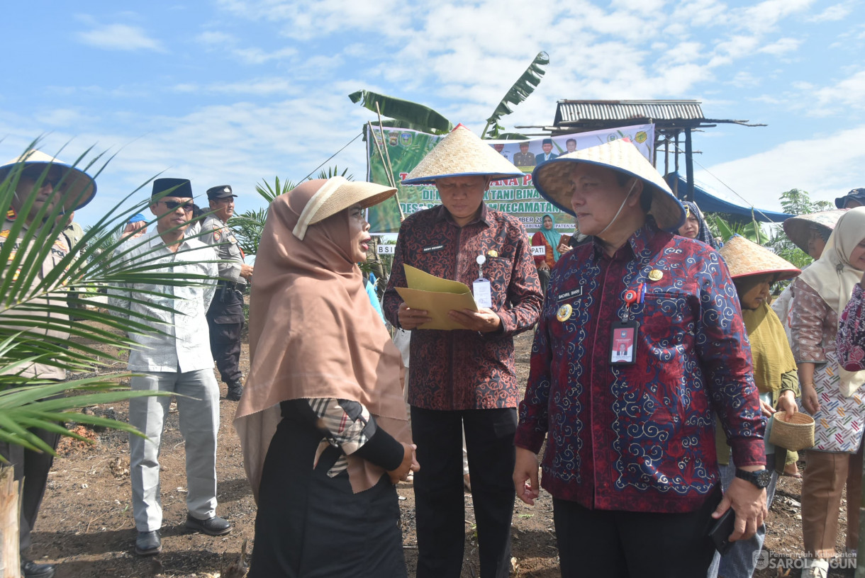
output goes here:
{"type": "MultiPolygon", "coordinates": [[[[431,206],[441,204],[439,191],[435,185],[402,185],[402,179],[435,147],[444,135],[430,135],[425,132],[408,129],[392,129],[385,127],[382,138],[381,131],[373,128],[375,140],[367,135],[368,175],[367,180],[381,185],[388,184],[387,168],[381,161],[382,153],[387,149],[391,167],[394,171],[394,181],[399,187],[399,203],[402,213],[408,216],[431,206]],[[378,141],[376,147],[375,141],[378,141]]],[[[653,143],[655,143],[655,125],[638,124],[623,126],[610,130],[593,130],[557,137],[540,137],[526,141],[489,140],[490,146],[502,156],[513,162],[525,173],[522,177],[492,181],[490,190],[484,195],[484,201],[491,209],[509,213],[520,219],[529,234],[541,229],[541,219],[544,214],[554,218],[556,230],[562,233],[573,232],[573,217],[562,213],[552,203],[541,197],[532,185],[532,171],[544,160],[565,155],[568,152],[626,138],[634,143],[639,151],[653,162],[653,143]]],[[[367,220],[372,234],[394,233],[400,230],[400,207],[396,197],[372,206],[368,210],[367,220]]]]}

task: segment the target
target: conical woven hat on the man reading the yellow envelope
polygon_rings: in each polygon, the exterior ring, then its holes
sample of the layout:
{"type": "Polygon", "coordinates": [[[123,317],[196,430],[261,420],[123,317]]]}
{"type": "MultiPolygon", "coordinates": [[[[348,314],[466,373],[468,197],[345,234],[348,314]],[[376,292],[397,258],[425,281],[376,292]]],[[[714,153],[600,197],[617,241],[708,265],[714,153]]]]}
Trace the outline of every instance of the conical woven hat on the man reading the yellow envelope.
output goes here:
{"type": "Polygon", "coordinates": [[[447,176],[472,175],[488,176],[497,180],[521,176],[522,170],[484,143],[471,130],[458,124],[451,134],[441,139],[424,160],[412,169],[402,180],[402,184],[432,184],[436,179],[447,176]]]}

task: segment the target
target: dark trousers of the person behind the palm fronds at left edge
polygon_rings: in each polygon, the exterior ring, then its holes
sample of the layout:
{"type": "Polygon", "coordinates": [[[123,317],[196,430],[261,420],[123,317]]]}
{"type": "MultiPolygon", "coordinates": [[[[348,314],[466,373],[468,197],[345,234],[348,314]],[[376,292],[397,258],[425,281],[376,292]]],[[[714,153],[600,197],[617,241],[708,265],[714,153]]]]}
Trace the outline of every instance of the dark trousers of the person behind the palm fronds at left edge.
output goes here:
{"type": "MultiPolygon", "coordinates": [[[[30,429],[39,439],[45,441],[49,446],[56,449],[60,434],[54,434],[45,429],[30,429]]],[[[30,545],[30,532],[36,517],[39,515],[39,506],[42,505],[42,496],[45,495],[45,485],[48,483],[48,471],[54,463],[51,454],[40,454],[29,449],[22,448],[16,444],[0,442],[0,455],[10,461],[14,467],[15,480],[24,480],[21,491],[21,517],[19,528],[19,543],[21,551],[30,545]]]]}

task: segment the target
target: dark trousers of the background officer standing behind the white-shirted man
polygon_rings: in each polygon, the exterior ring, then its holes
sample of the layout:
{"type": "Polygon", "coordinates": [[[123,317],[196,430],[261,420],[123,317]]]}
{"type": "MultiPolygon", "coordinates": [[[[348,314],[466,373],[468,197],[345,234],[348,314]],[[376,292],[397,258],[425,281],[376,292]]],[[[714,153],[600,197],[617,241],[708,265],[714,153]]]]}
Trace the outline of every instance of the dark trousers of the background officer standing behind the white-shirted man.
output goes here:
{"type": "Polygon", "coordinates": [[[210,353],[225,384],[240,383],[240,331],[243,329],[243,294],[219,286],[208,309],[210,353]]]}

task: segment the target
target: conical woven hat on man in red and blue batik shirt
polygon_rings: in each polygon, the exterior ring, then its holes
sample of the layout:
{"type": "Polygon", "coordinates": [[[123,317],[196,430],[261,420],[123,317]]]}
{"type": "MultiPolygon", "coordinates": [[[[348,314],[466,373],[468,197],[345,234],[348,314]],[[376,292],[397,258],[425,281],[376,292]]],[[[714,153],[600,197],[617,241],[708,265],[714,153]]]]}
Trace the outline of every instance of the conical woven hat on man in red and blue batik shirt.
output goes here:
{"type": "Polygon", "coordinates": [[[636,176],[652,191],[650,215],[665,231],[675,232],[685,222],[685,209],[663,180],[657,169],[630,141],[617,139],[590,149],[575,150],[558,156],[535,168],[532,181],[541,196],[573,216],[571,207],[571,170],[573,164],[583,162],[612,168],[618,173],[636,176]]]}

